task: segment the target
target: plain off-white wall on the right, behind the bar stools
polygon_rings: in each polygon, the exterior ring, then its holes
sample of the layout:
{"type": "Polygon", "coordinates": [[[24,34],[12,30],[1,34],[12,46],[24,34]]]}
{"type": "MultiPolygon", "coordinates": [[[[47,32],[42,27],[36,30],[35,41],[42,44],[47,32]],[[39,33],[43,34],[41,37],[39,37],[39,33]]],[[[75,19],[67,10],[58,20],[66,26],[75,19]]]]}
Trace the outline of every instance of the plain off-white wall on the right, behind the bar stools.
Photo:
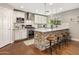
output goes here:
{"type": "Polygon", "coordinates": [[[57,14],[64,23],[70,24],[70,32],[73,40],[79,41],[79,9],[73,9],[57,14]],[[72,19],[72,21],[71,21],[72,19]]]}

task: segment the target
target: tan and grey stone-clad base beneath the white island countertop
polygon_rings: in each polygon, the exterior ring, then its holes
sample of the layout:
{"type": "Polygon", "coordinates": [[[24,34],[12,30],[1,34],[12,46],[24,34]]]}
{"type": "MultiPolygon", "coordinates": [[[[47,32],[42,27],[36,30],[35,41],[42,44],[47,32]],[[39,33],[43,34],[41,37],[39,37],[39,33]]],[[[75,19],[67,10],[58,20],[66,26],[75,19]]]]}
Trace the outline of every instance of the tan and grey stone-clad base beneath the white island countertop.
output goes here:
{"type": "Polygon", "coordinates": [[[41,32],[41,31],[35,31],[35,37],[34,37],[34,44],[35,47],[37,47],[38,49],[45,50],[48,45],[49,45],[49,41],[47,40],[47,37],[50,34],[58,34],[58,33],[62,33],[62,32],[69,32],[69,29],[62,29],[62,30],[57,30],[57,31],[48,31],[48,32],[41,32]]]}

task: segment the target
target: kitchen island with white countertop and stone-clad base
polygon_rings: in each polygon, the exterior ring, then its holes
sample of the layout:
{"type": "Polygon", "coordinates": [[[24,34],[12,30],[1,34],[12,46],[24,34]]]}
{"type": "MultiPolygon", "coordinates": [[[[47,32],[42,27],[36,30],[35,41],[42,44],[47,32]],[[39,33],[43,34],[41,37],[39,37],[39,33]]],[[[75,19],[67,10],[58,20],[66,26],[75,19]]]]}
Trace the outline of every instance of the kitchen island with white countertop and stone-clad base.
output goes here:
{"type": "Polygon", "coordinates": [[[45,50],[46,48],[48,48],[49,46],[49,41],[47,40],[47,37],[50,34],[57,34],[60,32],[64,32],[64,31],[69,31],[69,27],[65,26],[65,27],[58,27],[58,28],[39,28],[39,29],[35,29],[35,37],[34,37],[34,44],[35,47],[37,47],[38,49],[45,50]]]}

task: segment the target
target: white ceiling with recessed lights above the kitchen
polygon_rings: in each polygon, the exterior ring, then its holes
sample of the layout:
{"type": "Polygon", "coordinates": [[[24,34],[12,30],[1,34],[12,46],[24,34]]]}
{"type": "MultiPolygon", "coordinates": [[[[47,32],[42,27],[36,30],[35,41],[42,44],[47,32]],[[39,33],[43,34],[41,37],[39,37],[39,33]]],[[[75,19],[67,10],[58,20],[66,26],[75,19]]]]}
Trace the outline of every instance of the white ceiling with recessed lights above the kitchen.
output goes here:
{"type": "Polygon", "coordinates": [[[79,8],[79,3],[8,3],[15,9],[38,14],[55,14],[79,8]]]}

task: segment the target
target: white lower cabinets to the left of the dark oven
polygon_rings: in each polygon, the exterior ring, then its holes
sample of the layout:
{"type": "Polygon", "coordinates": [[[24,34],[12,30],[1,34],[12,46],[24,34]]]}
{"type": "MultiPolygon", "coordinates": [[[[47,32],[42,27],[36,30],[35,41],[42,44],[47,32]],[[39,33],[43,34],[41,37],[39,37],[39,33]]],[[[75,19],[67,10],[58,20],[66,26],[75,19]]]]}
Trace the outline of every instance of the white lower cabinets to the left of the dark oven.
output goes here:
{"type": "Polygon", "coordinates": [[[15,40],[22,40],[25,38],[27,38],[27,30],[26,29],[15,30],[15,40]]]}

